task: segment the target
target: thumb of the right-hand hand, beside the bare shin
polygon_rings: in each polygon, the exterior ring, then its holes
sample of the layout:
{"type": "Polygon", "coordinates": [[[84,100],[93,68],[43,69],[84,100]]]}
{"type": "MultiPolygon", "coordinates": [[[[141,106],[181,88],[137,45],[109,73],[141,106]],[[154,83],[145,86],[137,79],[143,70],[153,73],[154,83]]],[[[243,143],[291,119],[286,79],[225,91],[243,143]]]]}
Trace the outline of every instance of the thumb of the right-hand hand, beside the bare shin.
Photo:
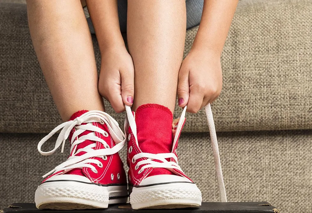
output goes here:
{"type": "Polygon", "coordinates": [[[179,107],[185,107],[188,104],[190,86],[188,81],[189,70],[181,67],[178,77],[178,104],[179,107]]]}

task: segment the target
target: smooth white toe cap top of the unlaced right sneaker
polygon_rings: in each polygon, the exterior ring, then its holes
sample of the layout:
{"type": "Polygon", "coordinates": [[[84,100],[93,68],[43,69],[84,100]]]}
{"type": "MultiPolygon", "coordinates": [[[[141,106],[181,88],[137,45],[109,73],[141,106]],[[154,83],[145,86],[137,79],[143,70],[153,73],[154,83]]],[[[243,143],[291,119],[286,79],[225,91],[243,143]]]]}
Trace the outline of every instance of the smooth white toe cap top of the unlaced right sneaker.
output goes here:
{"type": "Polygon", "coordinates": [[[170,183],[170,182],[190,182],[188,178],[178,176],[178,175],[154,175],[145,178],[141,183],[140,186],[143,185],[150,185],[150,184],[159,184],[159,183],[170,183]]]}

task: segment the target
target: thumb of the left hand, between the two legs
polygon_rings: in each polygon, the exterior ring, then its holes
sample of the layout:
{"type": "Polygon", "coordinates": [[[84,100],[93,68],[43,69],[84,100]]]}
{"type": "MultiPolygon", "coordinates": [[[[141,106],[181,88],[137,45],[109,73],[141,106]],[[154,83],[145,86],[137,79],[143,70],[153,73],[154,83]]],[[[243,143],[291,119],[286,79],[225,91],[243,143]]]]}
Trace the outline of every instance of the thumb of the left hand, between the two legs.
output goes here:
{"type": "Polygon", "coordinates": [[[121,97],[125,105],[132,106],[134,96],[134,72],[120,72],[121,97]]]}

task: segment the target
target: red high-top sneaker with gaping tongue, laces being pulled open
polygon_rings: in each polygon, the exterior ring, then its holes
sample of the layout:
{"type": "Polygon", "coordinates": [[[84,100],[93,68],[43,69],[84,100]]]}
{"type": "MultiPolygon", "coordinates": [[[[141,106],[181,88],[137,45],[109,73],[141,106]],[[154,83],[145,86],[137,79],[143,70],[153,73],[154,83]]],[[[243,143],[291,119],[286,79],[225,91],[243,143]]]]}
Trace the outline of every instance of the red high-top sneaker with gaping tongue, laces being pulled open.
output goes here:
{"type": "Polygon", "coordinates": [[[178,165],[176,150],[185,110],[175,125],[177,120],[173,122],[167,107],[144,104],[136,113],[126,107],[128,182],[133,209],[201,205],[200,190],[178,165]]]}

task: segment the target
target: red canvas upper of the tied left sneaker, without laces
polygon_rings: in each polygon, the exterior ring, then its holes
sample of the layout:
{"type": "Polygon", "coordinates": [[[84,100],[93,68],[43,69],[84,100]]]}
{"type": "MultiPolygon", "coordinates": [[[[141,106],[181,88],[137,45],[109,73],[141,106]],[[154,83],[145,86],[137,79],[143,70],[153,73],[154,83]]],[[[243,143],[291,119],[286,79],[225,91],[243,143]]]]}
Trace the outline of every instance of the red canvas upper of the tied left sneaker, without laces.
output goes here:
{"type": "MultiPolygon", "coordinates": [[[[74,120],[75,118],[77,118],[77,117],[79,117],[81,115],[83,115],[86,112],[88,112],[88,111],[87,110],[77,111],[76,113],[74,113],[71,116],[70,121],[74,120]]],[[[82,123],[81,125],[84,125],[84,124],[86,124],[86,123],[82,123]]],[[[97,127],[101,128],[102,130],[105,130],[108,133],[108,137],[104,137],[102,134],[100,134],[98,132],[95,132],[96,136],[98,136],[99,138],[105,140],[105,142],[110,146],[110,148],[115,146],[115,142],[111,138],[110,131],[109,131],[109,129],[108,129],[106,124],[101,124],[99,122],[93,122],[92,124],[94,126],[97,126],[97,127]]],[[[71,133],[69,135],[69,141],[71,141],[71,137],[72,137],[72,135],[73,135],[73,133],[75,131],[76,131],[76,128],[74,127],[71,130],[71,133]]],[[[78,137],[81,137],[82,135],[87,135],[90,132],[91,131],[86,130],[83,133],[81,133],[78,137]]],[[[92,140],[85,140],[84,142],[76,145],[76,148],[74,147],[74,149],[73,149],[72,153],[70,154],[70,156],[73,155],[73,152],[75,150],[82,149],[82,148],[84,148],[87,145],[92,144],[92,143],[96,143],[96,147],[94,148],[96,150],[97,149],[105,149],[104,145],[102,143],[100,143],[100,142],[92,141],[92,140]]],[[[83,154],[85,154],[85,152],[77,153],[76,156],[81,156],[83,154]]],[[[119,184],[119,183],[120,184],[124,184],[124,183],[127,183],[125,171],[124,171],[124,168],[123,168],[123,163],[122,163],[118,153],[115,153],[113,155],[108,155],[106,160],[104,160],[103,158],[99,158],[99,157],[94,157],[92,159],[97,159],[97,160],[99,160],[103,164],[103,167],[100,168],[97,164],[90,163],[97,169],[98,173],[94,173],[91,170],[91,168],[74,168],[74,169],[72,169],[72,170],[70,170],[70,171],[68,171],[66,173],[63,173],[63,171],[60,171],[58,173],[75,174],[75,175],[85,176],[85,177],[89,178],[91,180],[91,182],[99,183],[99,184],[112,184],[112,183],[114,183],[114,184],[119,184]],[[119,173],[119,180],[117,179],[117,174],[118,173],[119,173]],[[115,177],[113,181],[111,180],[111,174],[113,174],[114,177],[115,177]]],[[[56,175],[58,173],[55,173],[53,175],[56,175]]],[[[51,176],[53,176],[53,175],[51,175],[51,176]]],[[[50,178],[51,176],[49,176],[48,178],[50,178]]],[[[48,178],[46,178],[46,180],[48,178]]],[[[46,181],[46,180],[44,180],[44,181],[46,181]]]]}

